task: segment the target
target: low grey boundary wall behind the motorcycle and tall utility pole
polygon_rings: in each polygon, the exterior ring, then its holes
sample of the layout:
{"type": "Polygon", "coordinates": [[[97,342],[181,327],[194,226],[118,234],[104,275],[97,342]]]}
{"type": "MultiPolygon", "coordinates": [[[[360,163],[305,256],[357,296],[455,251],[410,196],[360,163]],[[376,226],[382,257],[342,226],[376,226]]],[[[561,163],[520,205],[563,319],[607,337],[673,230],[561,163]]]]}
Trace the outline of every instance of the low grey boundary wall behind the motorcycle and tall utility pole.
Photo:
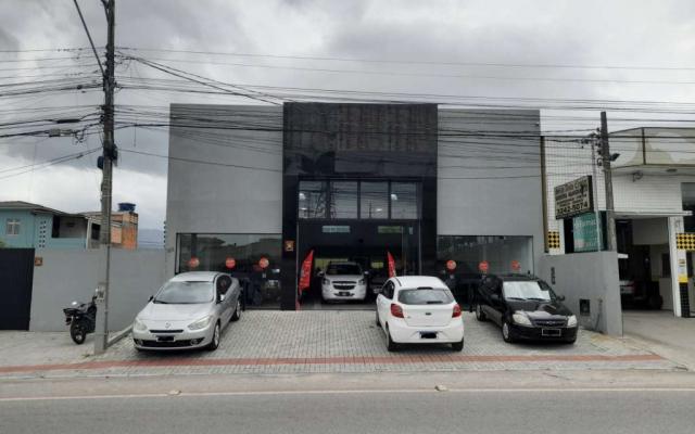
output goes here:
{"type": "MultiPolygon", "coordinates": [[[[63,308],[88,302],[103,279],[101,250],[37,250],[43,265],[34,267],[30,331],[66,330],[63,308]]],[[[111,251],[109,329],[122,330],[164,283],[164,252],[111,251]]]]}

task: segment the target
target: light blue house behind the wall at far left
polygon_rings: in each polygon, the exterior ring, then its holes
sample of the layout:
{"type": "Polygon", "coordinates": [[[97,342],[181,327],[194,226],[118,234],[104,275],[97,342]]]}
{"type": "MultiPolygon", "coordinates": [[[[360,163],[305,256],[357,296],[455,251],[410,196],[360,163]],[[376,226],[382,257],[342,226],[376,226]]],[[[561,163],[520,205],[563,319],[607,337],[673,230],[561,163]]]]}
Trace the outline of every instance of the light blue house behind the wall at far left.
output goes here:
{"type": "Polygon", "coordinates": [[[90,248],[99,241],[85,216],[28,202],[0,202],[0,241],[15,248],[90,248]]]}

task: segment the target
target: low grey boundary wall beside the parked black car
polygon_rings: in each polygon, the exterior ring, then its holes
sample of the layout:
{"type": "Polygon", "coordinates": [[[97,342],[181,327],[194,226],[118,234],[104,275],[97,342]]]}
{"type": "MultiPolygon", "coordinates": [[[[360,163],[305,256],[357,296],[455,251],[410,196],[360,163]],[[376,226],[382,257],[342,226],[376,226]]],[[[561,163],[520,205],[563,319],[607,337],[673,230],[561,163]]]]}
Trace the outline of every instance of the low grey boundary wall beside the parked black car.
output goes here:
{"type": "Polygon", "coordinates": [[[615,252],[545,255],[539,275],[577,315],[580,324],[610,335],[622,335],[622,309],[618,281],[618,256],[615,252]],[[555,277],[555,283],[553,283],[555,277]],[[591,316],[579,315],[579,299],[591,303],[591,316]]]}

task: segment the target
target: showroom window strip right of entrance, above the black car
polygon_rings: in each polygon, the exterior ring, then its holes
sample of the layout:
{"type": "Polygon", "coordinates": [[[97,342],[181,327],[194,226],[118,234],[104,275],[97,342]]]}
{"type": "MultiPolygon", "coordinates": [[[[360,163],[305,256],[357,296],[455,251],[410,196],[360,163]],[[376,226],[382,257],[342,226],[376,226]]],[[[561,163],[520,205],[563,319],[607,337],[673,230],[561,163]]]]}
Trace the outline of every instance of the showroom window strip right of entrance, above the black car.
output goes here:
{"type": "Polygon", "coordinates": [[[478,273],[478,265],[485,260],[490,273],[533,272],[533,238],[504,235],[440,235],[437,238],[437,258],[442,265],[456,263],[457,273],[478,273]],[[513,263],[519,270],[514,270],[513,263]]]}

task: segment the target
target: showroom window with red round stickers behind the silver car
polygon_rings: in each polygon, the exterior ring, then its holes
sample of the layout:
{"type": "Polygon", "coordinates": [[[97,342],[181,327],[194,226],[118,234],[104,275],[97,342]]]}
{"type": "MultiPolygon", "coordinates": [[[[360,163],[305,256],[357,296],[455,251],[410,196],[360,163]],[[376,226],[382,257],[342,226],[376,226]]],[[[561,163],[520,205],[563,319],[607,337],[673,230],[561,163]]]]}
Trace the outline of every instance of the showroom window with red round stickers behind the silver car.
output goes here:
{"type": "Polygon", "coordinates": [[[229,272],[242,281],[248,306],[279,306],[281,239],[279,233],[179,233],[176,272],[229,272]]]}

